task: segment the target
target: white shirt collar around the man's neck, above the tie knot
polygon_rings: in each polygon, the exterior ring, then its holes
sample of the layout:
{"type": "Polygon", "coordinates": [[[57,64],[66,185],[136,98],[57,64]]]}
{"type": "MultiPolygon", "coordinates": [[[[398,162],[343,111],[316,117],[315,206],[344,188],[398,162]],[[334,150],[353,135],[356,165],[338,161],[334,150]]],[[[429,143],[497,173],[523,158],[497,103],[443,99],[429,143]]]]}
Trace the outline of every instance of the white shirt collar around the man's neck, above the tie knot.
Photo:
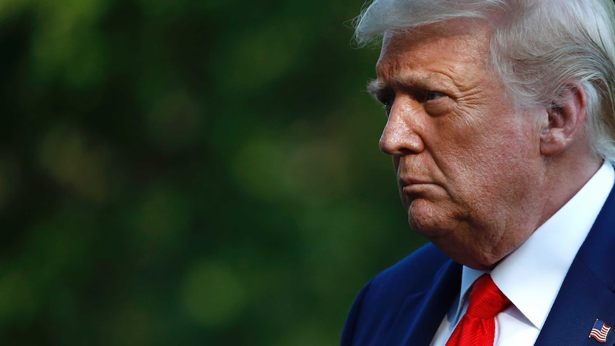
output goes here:
{"type": "MultiPolygon", "coordinates": [[[[605,162],[568,203],[491,272],[494,283],[532,324],[541,329],[568,269],[615,182],[605,162]],[[527,294],[532,292],[532,294],[527,294]]],[[[463,267],[457,320],[481,270],[463,267]]]]}

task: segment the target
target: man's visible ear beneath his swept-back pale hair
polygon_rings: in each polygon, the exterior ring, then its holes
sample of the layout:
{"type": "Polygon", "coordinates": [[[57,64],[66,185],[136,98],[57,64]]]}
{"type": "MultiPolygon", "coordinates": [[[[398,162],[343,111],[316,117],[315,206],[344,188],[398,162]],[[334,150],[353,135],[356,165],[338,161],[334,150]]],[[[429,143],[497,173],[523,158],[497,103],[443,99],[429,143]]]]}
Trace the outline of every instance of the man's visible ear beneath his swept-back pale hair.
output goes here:
{"type": "Polygon", "coordinates": [[[579,137],[584,126],[585,108],[585,91],[576,83],[566,85],[559,95],[559,102],[547,109],[549,121],[540,136],[543,156],[556,155],[579,137]]]}

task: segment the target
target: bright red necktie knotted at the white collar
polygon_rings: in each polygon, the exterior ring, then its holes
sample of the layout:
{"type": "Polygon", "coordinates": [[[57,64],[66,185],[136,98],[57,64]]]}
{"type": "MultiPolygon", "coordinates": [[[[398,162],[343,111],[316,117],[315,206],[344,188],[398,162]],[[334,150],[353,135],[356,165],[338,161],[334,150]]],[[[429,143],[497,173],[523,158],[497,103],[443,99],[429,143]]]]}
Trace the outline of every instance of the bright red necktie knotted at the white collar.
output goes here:
{"type": "Polygon", "coordinates": [[[489,274],[484,274],[472,286],[469,305],[446,346],[493,346],[494,317],[510,300],[495,285],[489,274]]]}

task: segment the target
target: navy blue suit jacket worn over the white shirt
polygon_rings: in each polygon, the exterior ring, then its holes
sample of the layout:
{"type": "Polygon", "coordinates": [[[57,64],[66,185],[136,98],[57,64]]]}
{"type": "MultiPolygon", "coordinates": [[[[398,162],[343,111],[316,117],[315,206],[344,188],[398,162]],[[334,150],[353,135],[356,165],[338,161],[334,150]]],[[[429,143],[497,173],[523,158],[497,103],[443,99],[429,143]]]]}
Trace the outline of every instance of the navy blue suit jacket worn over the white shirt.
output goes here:
{"type": "MultiPolygon", "coordinates": [[[[615,189],[614,189],[615,190],[615,189]]],[[[576,254],[534,345],[615,345],[615,193],[576,254]],[[606,344],[589,338],[596,319],[606,344]]],[[[359,292],[342,346],[428,346],[461,286],[462,266],[432,244],[373,278],[359,292]]]]}

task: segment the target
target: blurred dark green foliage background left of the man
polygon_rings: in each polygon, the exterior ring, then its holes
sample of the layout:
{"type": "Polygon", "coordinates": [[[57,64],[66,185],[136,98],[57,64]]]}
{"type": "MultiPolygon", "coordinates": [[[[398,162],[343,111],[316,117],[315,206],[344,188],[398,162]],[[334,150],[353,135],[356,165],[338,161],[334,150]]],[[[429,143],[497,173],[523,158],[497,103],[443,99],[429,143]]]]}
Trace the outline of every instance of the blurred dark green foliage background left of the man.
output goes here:
{"type": "Polygon", "coordinates": [[[412,235],[362,0],[0,0],[0,344],[336,345],[412,235]]]}

